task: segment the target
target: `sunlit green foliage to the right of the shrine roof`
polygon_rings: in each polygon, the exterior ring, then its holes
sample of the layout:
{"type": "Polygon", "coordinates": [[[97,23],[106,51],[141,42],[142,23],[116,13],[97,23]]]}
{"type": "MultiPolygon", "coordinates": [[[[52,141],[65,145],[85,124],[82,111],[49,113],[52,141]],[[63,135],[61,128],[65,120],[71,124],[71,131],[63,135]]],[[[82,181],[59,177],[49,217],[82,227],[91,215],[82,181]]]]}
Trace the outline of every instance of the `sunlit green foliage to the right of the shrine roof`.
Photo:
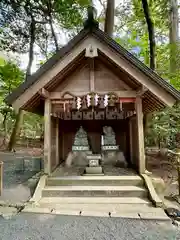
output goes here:
{"type": "MultiPolygon", "coordinates": [[[[169,44],[169,0],[148,2],[155,27],[156,72],[180,90],[180,52],[176,56],[170,55],[173,47],[176,47],[176,51],[180,51],[180,48],[169,44]],[[172,57],[176,57],[178,68],[170,72],[172,57]]],[[[120,4],[116,17],[118,24],[115,40],[149,66],[148,32],[141,1],[133,0],[120,4]]],[[[146,144],[174,148],[179,132],[180,106],[176,105],[148,116],[146,144]]]]}

